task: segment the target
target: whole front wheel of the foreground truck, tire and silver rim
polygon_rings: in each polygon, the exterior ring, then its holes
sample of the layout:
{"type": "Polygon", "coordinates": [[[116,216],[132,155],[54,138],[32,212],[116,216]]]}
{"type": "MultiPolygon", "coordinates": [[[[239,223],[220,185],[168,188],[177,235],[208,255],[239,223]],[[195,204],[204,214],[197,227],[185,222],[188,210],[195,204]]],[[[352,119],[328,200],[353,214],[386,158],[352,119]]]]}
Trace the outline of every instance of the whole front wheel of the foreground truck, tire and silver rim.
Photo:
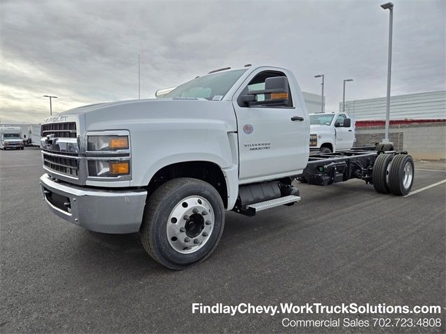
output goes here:
{"type": "Polygon", "coordinates": [[[203,262],[215,250],[224,228],[224,206],[213,186],[180,177],[148,198],[141,241],[154,260],[181,270],[203,262]]]}

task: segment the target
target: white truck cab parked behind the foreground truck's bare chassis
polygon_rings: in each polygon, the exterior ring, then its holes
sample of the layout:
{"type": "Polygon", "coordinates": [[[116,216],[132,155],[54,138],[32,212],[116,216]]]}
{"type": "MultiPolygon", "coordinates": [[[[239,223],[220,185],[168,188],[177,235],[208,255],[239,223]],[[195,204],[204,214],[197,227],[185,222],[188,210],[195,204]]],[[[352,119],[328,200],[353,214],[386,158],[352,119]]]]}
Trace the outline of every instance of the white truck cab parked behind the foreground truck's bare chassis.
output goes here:
{"type": "Polygon", "coordinates": [[[351,150],[355,143],[355,124],[348,113],[311,113],[309,118],[309,147],[312,152],[351,150]]]}

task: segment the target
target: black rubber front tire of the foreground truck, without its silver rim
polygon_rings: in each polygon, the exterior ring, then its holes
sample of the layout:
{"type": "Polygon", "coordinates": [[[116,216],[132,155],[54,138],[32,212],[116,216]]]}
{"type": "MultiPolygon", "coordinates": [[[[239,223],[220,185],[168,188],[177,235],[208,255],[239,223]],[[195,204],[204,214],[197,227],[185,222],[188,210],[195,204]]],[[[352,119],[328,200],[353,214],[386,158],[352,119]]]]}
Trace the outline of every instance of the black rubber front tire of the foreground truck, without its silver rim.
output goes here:
{"type": "MultiPolygon", "coordinates": [[[[178,219],[180,219],[178,217],[178,219]]],[[[162,184],[148,198],[139,231],[146,252],[154,260],[169,269],[182,270],[206,260],[222,237],[224,228],[224,205],[220,194],[213,186],[201,180],[179,177],[162,184]],[[178,253],[167,236],[169,216],[185,198],[200,196],[213,209],[215,221],[206,243],[194,253],[178,253]]]]}

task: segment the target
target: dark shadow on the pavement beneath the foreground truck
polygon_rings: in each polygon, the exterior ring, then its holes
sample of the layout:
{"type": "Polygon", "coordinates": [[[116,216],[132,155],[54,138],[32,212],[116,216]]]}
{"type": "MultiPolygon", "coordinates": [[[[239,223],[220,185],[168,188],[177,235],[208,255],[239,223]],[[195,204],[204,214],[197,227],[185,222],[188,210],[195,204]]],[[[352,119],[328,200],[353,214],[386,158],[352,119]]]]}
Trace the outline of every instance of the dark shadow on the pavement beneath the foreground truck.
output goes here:
{"type": "MultiPolygon", "coordinates": [[[[332,218],[333,210],[337,216],[348,215],[350,208],[362,205],[365,198],[371,206],[379,206],[380,202],[395,198],[382,196],[376,193],[372,186],[365,186],[365,184],[358,186],[355,182],[334,185],[330,188],[306,184],[299,184],[299,186],[303,190],[302,193],[305,193],[305,198],[302,196],[302,202],[291,207],[271,209],[255,217],[226,212],[226,223],[220,244],[204,263],[215,266],[222,257],[226,257],[229,262],[236,261],[240,251],[251,248],[251,244],[262,243],[266,233],[271,231],[279,236],[290,232],[300,234],[305,230],[317,229],[318,225],[323,225],[332,218]],[[361,195],[355,196],[355,191],[360,191],[361,195]],[[333,194],[336,196],[335,202],[333,194]],[[318,203],[316,208],[315,201],[318,203]],[[346,202],[349,202],[348,206],[342,205],[346,202]],[[315,216],[315,210],[317,216],[315,216]]],[[[176,272],[162,267],[146,253],[138,233],[104,234],[79,229],[72,232],[77,234],[75,247],[89,255],[89,263],[85,265],[95,263],[96,271],[107,264],[119,270],[132,271],[132,275],[139,273],[141,276],[146,276],[150,272],[169,274],[176,272]]],[[[73,238],[76,239],[75,235],[73,238]]],[[[84,262],[83,258],[78,260],[84,262]]],[[[193,268],[188,270],[194,271],[193,268]]],[[[104,269],[108,270],[107,267],[104,269]]]]}

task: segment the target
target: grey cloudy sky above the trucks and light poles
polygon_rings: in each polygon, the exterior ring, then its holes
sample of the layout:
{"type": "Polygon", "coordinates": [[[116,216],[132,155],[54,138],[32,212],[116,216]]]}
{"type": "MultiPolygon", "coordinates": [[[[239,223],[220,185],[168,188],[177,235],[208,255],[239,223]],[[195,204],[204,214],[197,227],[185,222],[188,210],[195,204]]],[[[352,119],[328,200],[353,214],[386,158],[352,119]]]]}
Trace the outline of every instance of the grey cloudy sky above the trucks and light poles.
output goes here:
{"type": "MultiPolygon", "coordinates": [[[[289,67],[325,111],[386,92],[380,0],[0,2],[2,123],[141,97],[219,67],[289,67]]],[[[445,90],[446,1],[394,0],[392,95],[445,90]]]]}

